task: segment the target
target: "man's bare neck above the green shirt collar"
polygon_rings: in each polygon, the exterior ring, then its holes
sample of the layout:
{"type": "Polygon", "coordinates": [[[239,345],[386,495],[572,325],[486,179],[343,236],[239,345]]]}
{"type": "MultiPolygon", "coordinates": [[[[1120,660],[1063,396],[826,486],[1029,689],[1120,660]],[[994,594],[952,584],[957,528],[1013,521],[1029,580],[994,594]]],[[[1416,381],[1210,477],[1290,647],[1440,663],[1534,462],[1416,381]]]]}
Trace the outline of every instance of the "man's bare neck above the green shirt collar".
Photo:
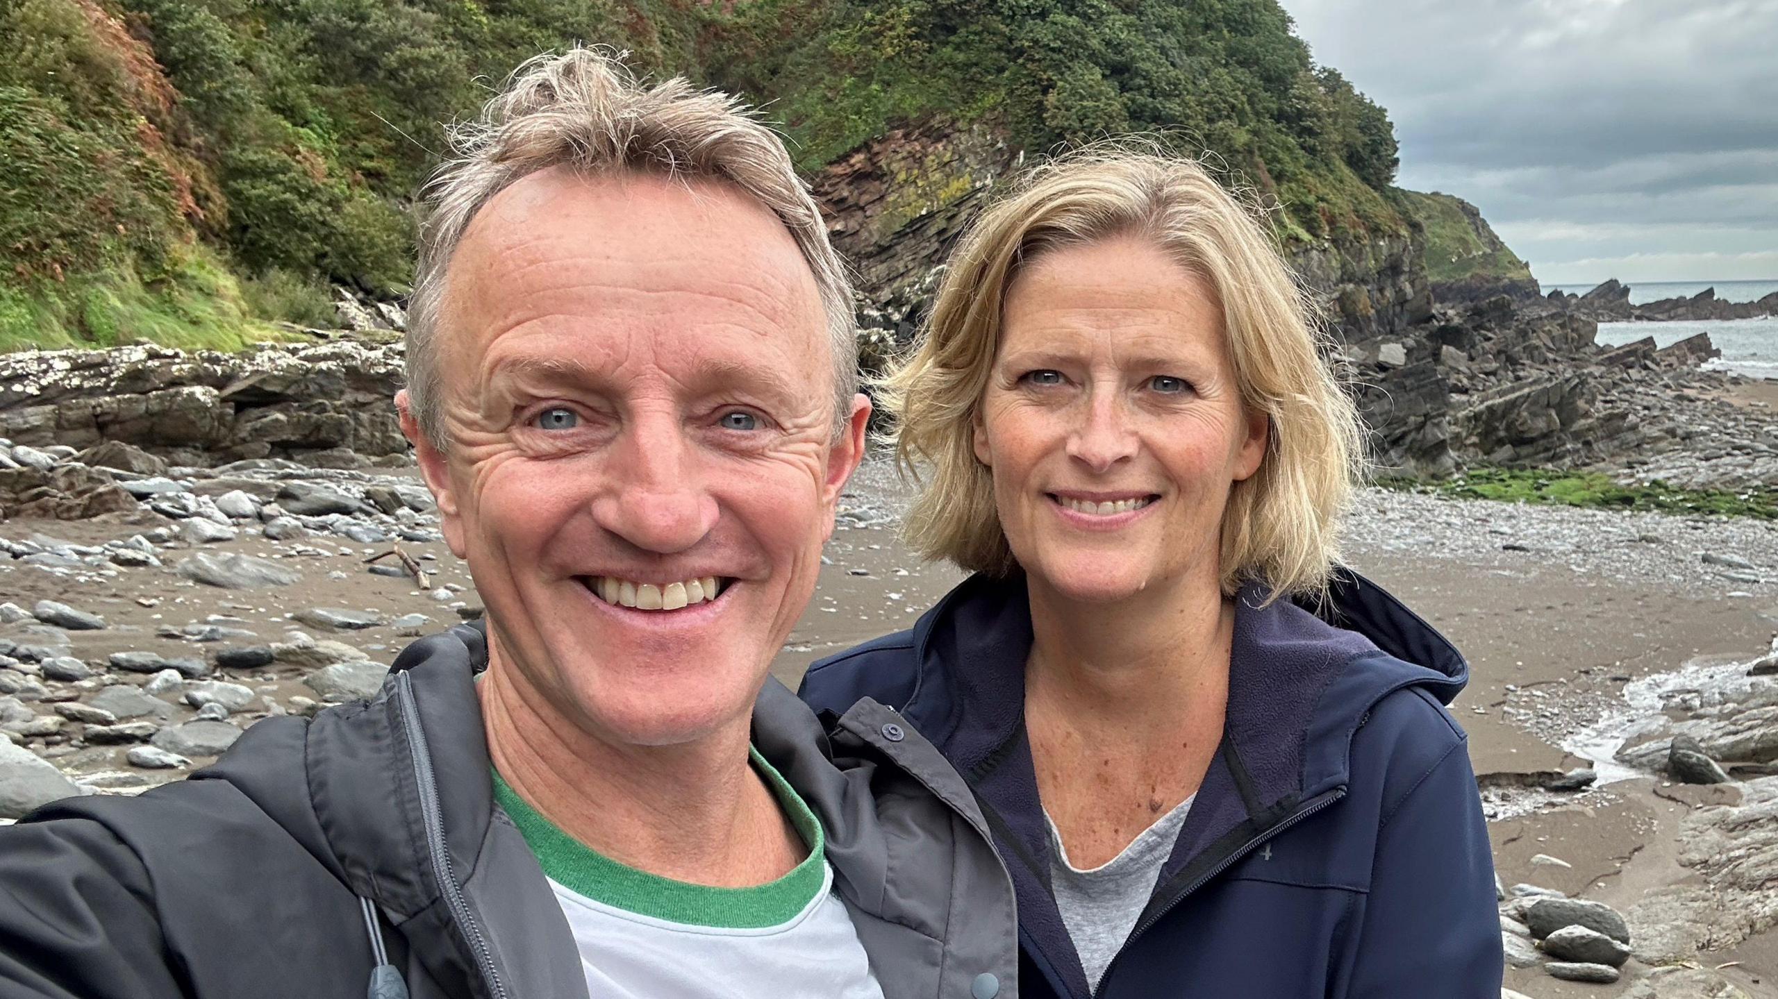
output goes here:
{"type": "Polygon", "coordinates": [[[807,855],[752,768],[747,716],[692,743],[613,745],[557,711],[498,654],[478,691],[500,775],[557,828],[612,860],[679,882],[752,887],[807,855]]]}

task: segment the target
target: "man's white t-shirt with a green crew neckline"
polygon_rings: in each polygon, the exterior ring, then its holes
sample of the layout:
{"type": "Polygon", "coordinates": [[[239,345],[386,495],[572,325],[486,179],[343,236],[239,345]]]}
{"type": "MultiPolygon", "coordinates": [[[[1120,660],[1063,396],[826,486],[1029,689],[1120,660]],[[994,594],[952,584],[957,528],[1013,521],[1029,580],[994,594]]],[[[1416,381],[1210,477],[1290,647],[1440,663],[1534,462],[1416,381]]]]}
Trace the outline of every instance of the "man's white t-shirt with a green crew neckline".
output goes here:
{"type": "Polygon", "coordinates": [[[809,857],[750,889],[692,885],[619,864],[571,839],[494,775],[496,800],[574,931],[594,999],[882,999],[834,894],[821,823],[757,752],[754,766],[809,857]]]}

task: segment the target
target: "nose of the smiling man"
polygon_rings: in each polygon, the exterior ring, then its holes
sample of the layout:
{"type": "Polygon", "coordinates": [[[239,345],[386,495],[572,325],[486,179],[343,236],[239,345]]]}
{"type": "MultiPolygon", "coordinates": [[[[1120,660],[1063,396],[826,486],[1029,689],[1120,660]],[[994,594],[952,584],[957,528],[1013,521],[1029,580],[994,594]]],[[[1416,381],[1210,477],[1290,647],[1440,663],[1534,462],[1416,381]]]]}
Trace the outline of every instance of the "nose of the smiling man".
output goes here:
{"type": "Polygon", "coordinates": [[[674,418],[633,420],[612,452],[610,475],[617,487],[594,501],[594,521],[644,551],[686,551],[717,526],[697,448],[674,418]]]}

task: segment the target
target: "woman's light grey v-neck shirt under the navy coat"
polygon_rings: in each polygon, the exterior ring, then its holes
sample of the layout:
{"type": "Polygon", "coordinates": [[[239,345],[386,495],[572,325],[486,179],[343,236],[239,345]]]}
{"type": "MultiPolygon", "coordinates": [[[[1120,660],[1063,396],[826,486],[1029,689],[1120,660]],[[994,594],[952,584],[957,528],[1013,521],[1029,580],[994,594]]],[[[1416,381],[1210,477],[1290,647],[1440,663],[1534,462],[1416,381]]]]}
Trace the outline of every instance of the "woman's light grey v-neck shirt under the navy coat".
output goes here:
{"type": "Polygon", "coordinates": [[[1173,811],[1141,830],[1122,853],[1090,871],[1069,862],[1061,834],[1056,832],[1049,812],[1044,812],[1044,825],[1049,827],[1049,883],[1056,892],[1056,908],[1061,910],[1061,923],[1074,939],[1074,951],[1081,955],[1086,983],[1095,992],[1106,965],[1124,949],[1129,931],[1136,928],[1136,917],[1154,896],[1161,866],[1173,853],[1179,827],[1191,811],[1191,798],[1173,805],[1173,811]]]}

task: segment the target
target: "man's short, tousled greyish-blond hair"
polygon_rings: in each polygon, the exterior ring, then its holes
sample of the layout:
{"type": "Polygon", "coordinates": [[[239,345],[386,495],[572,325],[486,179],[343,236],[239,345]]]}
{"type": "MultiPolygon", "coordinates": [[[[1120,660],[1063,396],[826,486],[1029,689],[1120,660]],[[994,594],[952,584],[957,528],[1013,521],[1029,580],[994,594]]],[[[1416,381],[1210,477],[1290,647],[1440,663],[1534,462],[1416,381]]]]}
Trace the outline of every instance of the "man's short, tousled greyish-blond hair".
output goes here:
{"type": "Polygon", "coordinates": [[[645,85],[619,53],[573,48],[514,69],[480,119],[452,130],[452,153],[421,196],[420,263],[407,308],[407,398],[436,448],[446,448],[437,334],[452,254],[482,206],[551,167],[594,178],[720,180],[770,208],[814,272],[834,354],[834,420],[845,423],[859,386],[852,283],[784,142],[738,98],[699,91],[685,78],[645,85]]]}

